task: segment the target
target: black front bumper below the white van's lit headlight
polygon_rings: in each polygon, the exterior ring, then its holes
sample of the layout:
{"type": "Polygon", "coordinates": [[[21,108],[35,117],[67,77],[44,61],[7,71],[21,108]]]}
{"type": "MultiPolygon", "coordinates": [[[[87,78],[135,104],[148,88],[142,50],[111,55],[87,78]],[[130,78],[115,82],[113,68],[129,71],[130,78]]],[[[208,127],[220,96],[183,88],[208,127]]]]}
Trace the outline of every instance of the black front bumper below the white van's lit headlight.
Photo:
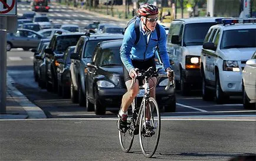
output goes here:
{"type": "Polygon", "coordinates": [[[199,69],[183,70],[182,76],[183,78],[185,78],[186,83],[192,83],[192,84],[202,83],[201,73],[199,69]]]}

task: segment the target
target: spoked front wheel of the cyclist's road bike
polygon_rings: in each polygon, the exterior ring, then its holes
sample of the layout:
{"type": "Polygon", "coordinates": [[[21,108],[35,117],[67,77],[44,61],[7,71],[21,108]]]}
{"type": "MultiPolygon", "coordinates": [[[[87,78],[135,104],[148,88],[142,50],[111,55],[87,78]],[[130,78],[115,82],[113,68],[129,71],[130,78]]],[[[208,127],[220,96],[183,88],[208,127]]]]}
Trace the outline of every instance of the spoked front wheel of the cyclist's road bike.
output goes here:
{"type": "Polygon", "coordinates": [[[146,111],[143,109],[142,115],[140,115],[140,147],[144,156],[152,157],[156,152],[160,138],[160,112],[155,98],[149,98],[145,105],[147,106],[146,111]],[[147,129],[146,118],[150,120],[150,129],[147,129]]]}

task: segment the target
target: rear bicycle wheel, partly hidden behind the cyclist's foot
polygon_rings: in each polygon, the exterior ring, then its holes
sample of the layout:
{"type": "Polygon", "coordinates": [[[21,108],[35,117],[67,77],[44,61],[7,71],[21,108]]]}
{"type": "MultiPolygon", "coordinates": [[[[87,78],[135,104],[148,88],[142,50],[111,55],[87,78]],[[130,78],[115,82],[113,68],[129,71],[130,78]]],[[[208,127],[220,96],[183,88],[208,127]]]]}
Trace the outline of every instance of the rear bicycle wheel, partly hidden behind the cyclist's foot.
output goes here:
{"type": "MultiPolygon", "coordinates": [[[[117,121],[119,123],[119,121],[117,121]]],[[[125,133],[119,131],[119,141],[120,145],[122,147],[122,150],[124,152],[129,152],[133,145],[133,139],[134,139],[134,128],[133,128],[133,120],[132,117],[127,118],[127,130],[125,133]]]]}

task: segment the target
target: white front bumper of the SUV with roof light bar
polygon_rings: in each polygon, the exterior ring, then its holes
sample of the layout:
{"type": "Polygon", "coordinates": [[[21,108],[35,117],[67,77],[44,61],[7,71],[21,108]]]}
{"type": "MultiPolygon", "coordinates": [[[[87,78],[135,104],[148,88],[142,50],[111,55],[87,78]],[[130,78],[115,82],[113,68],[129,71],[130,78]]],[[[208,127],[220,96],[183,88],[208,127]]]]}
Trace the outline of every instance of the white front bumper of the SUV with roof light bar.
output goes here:
{"type": "Polygon", "coordinates": [[[242,74],[241,72],[222,71],[219,72],[219,82],[221,89],[225,93],[242,92],[242,74]]]}

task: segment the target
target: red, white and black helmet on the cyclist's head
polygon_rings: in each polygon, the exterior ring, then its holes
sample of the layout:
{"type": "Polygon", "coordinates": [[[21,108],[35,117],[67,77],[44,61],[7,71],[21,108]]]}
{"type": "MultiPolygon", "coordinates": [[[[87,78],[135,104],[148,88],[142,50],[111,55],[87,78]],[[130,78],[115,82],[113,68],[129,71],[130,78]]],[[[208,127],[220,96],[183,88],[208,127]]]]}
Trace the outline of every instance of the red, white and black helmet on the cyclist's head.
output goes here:
{"type": "Polygon", "coordinates": [[[158,14],[158,8],[152,4],[144,4],[141,5],[138,9],[139,16],[149,16],[149,15],[156,15],[158,14]]]}

